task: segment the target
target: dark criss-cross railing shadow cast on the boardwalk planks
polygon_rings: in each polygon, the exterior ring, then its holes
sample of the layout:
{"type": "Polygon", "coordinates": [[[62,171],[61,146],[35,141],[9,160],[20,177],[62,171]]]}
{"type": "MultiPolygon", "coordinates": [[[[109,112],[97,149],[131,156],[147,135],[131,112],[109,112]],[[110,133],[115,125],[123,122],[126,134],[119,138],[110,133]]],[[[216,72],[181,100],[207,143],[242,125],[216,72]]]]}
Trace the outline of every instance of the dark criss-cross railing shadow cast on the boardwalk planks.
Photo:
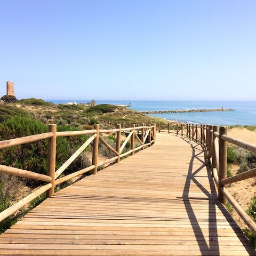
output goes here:
{"type": "MultiPolygon", "coordinates": [[[[182,138],[182,137],[181,137],[182,138]]],[[[239,232],[238,226],[234,226],[234,220],[231,219],[231,215],[228,213],[226,208],[218,201],[217,197],[217,191],[214,186],[214,181],[212,179],[211,175],[211,170],[210,167],[206,165],[205,162],[202,161],[202,159],[199,158],[202,154],[205,155],[205,151],[202,148],[201,145],[195,143],[194,141],[191,141],[187,138],[182,138],[186,142],[188,142],[191,146],[192,150],[192,156],[190,159],[189,167],[188,167],[188,173],[187,173],[187,179],[185,182],[185,187],[183,189],[183,194],[182,194],[182,199],[185,204],[185,208],[188,214],[189,221],[191,223],[191,226],[193,228],[196,241],[198,243],[199,249],[201,251],[202,255],[209,255],[209,252],[214,251],[214,255],[219,255],[220,254],[220,244],[218,241],[218,226],[217,226],[217,212],[216,209],[218,209],[223,213],[225,216],[226,220],[230,223],[230,226],[233,228],[234,232],[237,234],[237,237],[241,237],[241,231],[239,232]],[[197,152],[196,152],[197,150],[197,152]],[[198,151],[199,150],[199,151],[198,151]],[[202,165],[199,165],[199,167],[196,168],[195,166],[198,166],[194,164],[195,161],[199,161],[202,163],[202,165]],[[194,167],[194,168],[193,168],[194,167]],[[204,167],[207,168],[207,177],[208,181],[210,184],[210,191],[208,191],[206,188],[201,185],[200,182],[197,181],[197,177],[199,172],[204,169],[204,167]],[[193,170],[194,169],[194,170],[193,170]],[[199,190],[201,190],[204,195],[206,196],[206,200],[208,201],[208,218],[209,220],[209,236],[206,236],[200,226],[200,222],[204,221],[203,219],[198,219],[196,216],[196,213],[193,209],[193,200],[199,200],[202,198],[197,198],[197,197],[190,197],[189,192],[190,192],[190,187],[194,183],[194,185],[197,186],[199,190]],[[227,216],[230,216],[227,218],[227,216]]],[[[204,175],[205,177],[205,175],[204,175]]],[[[198,201],[197,201],[198,203],[198,201]]],[[[202,202],[205,204],[205,200],[202,202]]],[[[243,237],[244,238],[244,237],[243,237]]],[[[248,246],[248,243],[244,242],[244,239],[241,239],[241,243],[243,244],[244,248],[246,251],[251,255],[251,247],[248,246]]],[[[254,254],[253,254],[254,255],[254,254]]]]}

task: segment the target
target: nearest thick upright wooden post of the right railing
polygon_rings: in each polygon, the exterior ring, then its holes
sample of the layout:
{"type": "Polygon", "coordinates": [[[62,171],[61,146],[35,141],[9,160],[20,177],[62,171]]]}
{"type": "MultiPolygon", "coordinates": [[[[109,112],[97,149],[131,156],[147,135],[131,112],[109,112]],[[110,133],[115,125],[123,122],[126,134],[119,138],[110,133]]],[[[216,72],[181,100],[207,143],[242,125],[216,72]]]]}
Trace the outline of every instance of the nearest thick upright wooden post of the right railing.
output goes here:
{"type": "Polygon", "coordinates": [[[219,201],[223,203],[225,206],[227,205],[227,199],[221,193],[221,180],[227,178],[227,141],[223,140],[221,136],[223,134],[227,134],[227,127],[220,126],[220,138],[219,138],[219,187],[218,187],[218,195],[219,201]]]}

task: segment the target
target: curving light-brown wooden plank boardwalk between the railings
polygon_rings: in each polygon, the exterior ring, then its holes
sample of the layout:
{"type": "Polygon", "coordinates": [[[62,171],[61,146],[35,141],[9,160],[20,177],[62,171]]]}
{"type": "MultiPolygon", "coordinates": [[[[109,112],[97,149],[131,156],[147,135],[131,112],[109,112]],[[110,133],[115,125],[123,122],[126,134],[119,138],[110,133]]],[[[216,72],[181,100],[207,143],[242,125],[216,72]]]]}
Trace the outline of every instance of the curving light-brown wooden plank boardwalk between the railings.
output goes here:
{"type": "Polygon", "coordinates": [[[256,255],[195,142],[151,148],[60,190],[0,235],[1,255],[256,255]]]}

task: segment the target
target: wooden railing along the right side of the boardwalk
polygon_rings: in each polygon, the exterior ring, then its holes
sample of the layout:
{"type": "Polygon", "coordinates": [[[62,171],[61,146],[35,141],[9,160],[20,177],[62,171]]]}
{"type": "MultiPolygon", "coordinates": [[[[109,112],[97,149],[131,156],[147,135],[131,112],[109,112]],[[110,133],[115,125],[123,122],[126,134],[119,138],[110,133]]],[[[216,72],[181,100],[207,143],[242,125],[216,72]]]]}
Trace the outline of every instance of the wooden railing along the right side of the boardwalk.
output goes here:
{"type": "Polygon", "coordinates": [[[238,215],[252,230],[253,234],[256,235],[256,224],[226,188],[228,184],[256,177],[256,168],[253,168],[252,170],[227,178],[227,142],[253,153],[256,153],[256,145],[229,137],[227,135],[226,126],[196,126],[192,124],[183,124],[183,126],[186,126],[187,131],[186,134],[183,133],[183,135],[201,143],[207,152],[211,162],[213,179],[218,187],[219,201],[226,206],[228,200],[238,215]]]}

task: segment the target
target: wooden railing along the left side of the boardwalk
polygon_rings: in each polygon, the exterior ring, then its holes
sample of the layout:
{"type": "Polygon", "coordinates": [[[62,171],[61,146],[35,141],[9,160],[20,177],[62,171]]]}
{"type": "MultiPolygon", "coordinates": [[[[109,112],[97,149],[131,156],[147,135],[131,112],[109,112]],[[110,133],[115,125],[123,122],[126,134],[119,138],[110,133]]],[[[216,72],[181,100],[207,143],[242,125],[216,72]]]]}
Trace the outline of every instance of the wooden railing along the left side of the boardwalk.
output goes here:
{"type": "Polygon", "coordinates": [[[86,172],[92,171],[93,174],[97,173],[98,167],[109,164],[109,163],[119,163],[122,157],[133,155],[136,151],[140,149],[144,149],[147,146],[151,146],[156,140],[156,125],[150,126],[136,126],[135,124],[131,124],[131,127],[122,128],[121,124],[117,125],[116,129],[109,129],[109,130],[100,130],[99,124],[94,124],[93,130],[85,130],[85,131],[68,131],[68,132],[57,132],[57,125],[50,124],[49,125],[49,132],[31,135],[27,137],[11,139],[0,141],[0,149],[10,148],[17,145],[22,145],[25,143],[36,142],[40,140],[48,139],[48,157],[47,157],[47,175],[39,174],[27,170],[17,169],[11,166],[0,165],[0,173],[3,174],[11,174],[17,175],[19,177],[26,177],[29,179],[45,181],[47,182],[46,185],[42,186],[41,188],[37,189],[27,197],[21,199],[19,202],[13,204],[6,210],[0,213],[0,221],[9,217],[14,212],[21,209],[21,207],[25,206],[29,202],[31,202],[36,197],[42,195],[46,191],[46,195],[48,197],[54,195],[54,188],[55,186],[63,183],[67,180],[70,180],[77,175],[84,174],[86,172]],[[103,134],[108,133],[116,133],[116,148],[111,147],[107,141],[104,139],[103,134]],[[126,139],[121,145],[121,134],[125,134],[126,139]],[[57,137],[69,137],[69,136],[79,136],[84,134],[90,134],[90,138],[87,139],[83,145],[76,150],[76,152],[69,157],[69,159],[62,164],[62,166],[55,171],[55,158],[56,158],[56,141],[57,137]],[[134,148],[135,140],[140,143],[140,146],[134,148]],[[103,162],[98,162],[98,148],[99,148],[99,141],[103,143],[111,152],[115,154],[115,157],[107,159],[103,162]],[[131,143],[131,149],[127,152],[123,152],[127,142],[131,143]],[[86,167],[82,170],[76,171],[74,173],[68,174],[62,178],[59,178],[60,175],[67,169],[67,167],[88,147],[90,144],[92,145],[92,165],[86,167]]]}

